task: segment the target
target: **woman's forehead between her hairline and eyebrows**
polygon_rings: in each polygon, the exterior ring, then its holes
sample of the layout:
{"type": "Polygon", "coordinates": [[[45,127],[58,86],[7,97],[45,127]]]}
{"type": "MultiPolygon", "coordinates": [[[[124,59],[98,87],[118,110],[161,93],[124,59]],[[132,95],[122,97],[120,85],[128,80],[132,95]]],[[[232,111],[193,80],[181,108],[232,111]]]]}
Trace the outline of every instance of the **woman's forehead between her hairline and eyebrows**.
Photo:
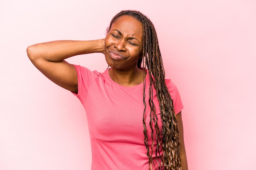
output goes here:
{"type": "Polygon", "coordinates": [[[130,15],[123,15],[113,22],[111,30],[118,30],[121,33],[143,35],[143,26],[140,21],[130,15]]]}

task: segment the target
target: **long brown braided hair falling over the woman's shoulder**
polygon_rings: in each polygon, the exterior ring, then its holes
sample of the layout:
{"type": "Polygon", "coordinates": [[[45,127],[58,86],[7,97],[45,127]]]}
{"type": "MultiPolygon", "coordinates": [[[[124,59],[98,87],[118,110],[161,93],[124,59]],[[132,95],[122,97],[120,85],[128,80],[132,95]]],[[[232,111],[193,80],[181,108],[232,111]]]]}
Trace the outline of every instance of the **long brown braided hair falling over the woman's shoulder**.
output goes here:
{"type": "Polygon", "coordinates": [[[152,144],[148,144],[148,135],[146,127],[146,73],[144,72],[144,83],[143,83],[143,103],[144,103],[144,113],[143,113],[143,126],[144,126],[144,144],[147,150],[147,156],[149,159],[149,169],[153,170],[155,163],[153,161],[153,146],[156,142],[155,149],[155,159],[158,163],[159,170],[163,168],[165,170],[181,170],[180,165],[180,142],[178,139],[178,129],[177,129],[177,120],[175,118],[175,111],[173,109],[173,100],[170,96],[168,88],[165,83],[165,72],[162,63],[162,57],[158,45],[157,34],[153,23],[140,13],[139,11],[121,11],[115,17],[113,17],[110,22],[110,27],[107,32],[110,30],[113,22],[117,20],[122,15],[130,15],[135,19],[139,20],[143,25],[143,57],[144,59],[139,59],[137,66],[141,68],[141,63],[143,68],[148,69],[149,74],[149,107],[150,107],[150,129],[151,129],[151,139],[152,144]],[[157,115],[155,111],[155,105],[153,102],[153,88],[156,90],[157,100],[159,101],[159,108],[162,120],[162,141],[160,129],[158,126],[157,115]],[[153,129],[153,122],[155,124],[153,129]],[[156,139],[154,139],[153,134],[156,134],[156,139]],[[163,157],[160,155],[160,145],[162,143],[163,157]],[[160,158],[161,162],[158,161],[160,158]]]}

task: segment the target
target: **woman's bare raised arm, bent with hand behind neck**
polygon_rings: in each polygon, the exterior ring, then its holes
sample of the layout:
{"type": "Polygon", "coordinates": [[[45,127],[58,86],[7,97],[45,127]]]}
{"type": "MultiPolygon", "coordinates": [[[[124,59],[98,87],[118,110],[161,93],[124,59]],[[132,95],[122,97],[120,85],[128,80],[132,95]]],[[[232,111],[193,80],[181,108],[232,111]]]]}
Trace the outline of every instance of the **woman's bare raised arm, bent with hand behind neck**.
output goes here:
{"type": "Polygon", "coordinates": [[[92,41],[50,41],[27,48],[27,55],[36,68],[57,85],[77,93],[74,65],[64,59],[94,52],[104,53],[104,39],[92,41]]]}

